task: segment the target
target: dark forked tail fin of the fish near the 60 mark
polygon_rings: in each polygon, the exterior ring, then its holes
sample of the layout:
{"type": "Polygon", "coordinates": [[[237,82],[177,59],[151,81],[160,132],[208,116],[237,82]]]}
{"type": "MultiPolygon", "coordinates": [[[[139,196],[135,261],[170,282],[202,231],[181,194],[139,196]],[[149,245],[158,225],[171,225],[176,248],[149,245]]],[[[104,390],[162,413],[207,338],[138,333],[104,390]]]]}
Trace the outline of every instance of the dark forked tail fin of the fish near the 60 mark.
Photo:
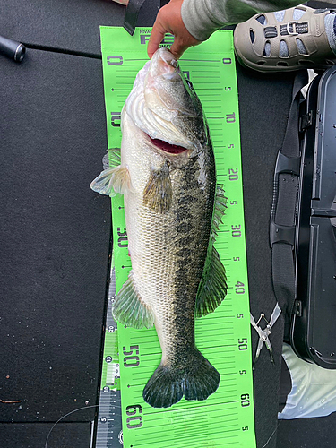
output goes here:
{"type": "Polygon", "coordinates": [[[160,364],[143,389],[143,400],[153,408],[168,408],[185,395],[185,400],[205,400],[215,392],[220,374],[195,349],[191,362],[184,366],[160,364]]]}

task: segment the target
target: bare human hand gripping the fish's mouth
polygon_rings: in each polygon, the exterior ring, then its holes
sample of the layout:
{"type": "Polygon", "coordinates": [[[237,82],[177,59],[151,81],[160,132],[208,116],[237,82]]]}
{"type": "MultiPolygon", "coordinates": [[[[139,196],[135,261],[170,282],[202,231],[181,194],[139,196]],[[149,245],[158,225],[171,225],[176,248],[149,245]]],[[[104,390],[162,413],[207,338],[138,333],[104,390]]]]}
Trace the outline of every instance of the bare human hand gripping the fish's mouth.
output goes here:
{"type": "Polygon", "coordinates": [[[151,30],[151,38],[148,42],[148,56],[153,56],[159,48],[159,44],[167,32],[174,34],[175,39],[170,47],[170,52],[178,59],[189,47],[194,47],[201,43],[194,39],[190,32],[185,28],[185,23],[181,17],[181,6],[183,0],[170,0],[165,4],[157,15],[156,21],[151,30]]]}

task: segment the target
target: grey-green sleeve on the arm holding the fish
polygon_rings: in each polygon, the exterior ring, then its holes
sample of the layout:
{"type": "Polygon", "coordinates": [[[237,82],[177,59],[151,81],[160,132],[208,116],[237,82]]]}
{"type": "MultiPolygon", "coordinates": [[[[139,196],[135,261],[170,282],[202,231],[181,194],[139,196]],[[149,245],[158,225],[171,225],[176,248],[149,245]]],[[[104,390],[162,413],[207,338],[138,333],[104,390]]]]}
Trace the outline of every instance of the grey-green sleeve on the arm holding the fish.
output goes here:
{"type": "Polygon", "coordinates": [[[297,0],[184,0],[182,20],[198,40],[208,39],[225,25],[245,22],[256,13],[291,8],[297,0]]]}

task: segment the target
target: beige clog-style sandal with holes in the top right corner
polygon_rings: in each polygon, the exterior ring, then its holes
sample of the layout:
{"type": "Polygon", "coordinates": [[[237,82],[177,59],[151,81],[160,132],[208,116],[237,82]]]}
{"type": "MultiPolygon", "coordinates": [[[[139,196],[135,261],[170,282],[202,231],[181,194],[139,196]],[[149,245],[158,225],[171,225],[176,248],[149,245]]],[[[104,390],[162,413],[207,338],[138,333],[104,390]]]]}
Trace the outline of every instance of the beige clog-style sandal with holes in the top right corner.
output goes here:
{"type": "Polygon", "coordinates": [[[279,13],[254,15],[236,27],[238,61],[259,72],[329,68],[336,63],[324,27],[324,17],[331,12],[300,4],[279,13]]]}

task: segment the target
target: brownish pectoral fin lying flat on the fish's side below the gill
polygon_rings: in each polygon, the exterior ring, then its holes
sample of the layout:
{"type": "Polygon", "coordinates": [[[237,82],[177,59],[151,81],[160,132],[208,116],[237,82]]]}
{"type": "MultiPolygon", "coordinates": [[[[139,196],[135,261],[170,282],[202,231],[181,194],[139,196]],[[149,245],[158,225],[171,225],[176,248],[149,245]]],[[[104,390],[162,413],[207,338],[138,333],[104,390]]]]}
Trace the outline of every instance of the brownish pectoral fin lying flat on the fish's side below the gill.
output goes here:
{"type": "Polygon", "coordinates": [[[158,213],[167,213],[170,209],[173,190],[168,164],[161,169],[152,169],[151,176],[143,191],[143,205],[158,213]]]}

